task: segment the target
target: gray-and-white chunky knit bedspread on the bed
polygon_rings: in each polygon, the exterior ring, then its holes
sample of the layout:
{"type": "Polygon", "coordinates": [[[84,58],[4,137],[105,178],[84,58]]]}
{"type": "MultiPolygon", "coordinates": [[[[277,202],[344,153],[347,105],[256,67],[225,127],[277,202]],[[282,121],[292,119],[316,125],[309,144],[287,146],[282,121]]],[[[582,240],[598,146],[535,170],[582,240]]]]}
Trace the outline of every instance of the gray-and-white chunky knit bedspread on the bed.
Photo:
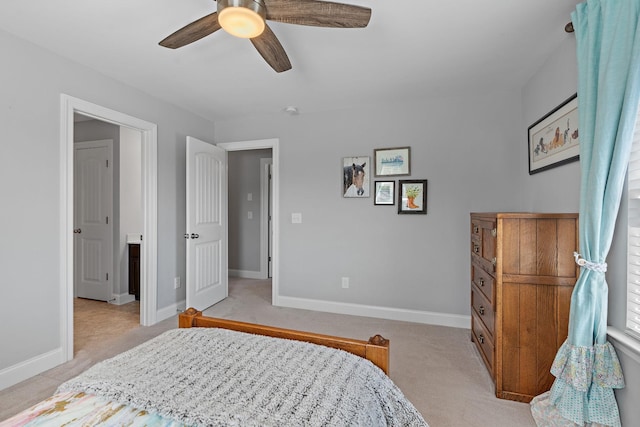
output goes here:
{"type": "Polygon", "coordinates": [[[67,381],[82,391],[201,426],[427,426],[366,359],[218,328],[167,331],[67,381]]]}

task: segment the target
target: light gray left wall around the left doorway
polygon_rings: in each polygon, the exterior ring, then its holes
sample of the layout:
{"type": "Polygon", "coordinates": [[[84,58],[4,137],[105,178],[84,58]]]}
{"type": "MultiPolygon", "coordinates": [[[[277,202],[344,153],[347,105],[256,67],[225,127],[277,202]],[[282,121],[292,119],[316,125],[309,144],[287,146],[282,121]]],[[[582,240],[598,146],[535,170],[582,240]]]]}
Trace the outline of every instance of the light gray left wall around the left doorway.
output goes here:
{"type": "Polygon", "coordinates": [[[59,354],[60,94],[158,124],[158,309],[184,299],[185,136],[212,140],[213,123],[5,32],[0,51],[1,379],[59,354]]]}

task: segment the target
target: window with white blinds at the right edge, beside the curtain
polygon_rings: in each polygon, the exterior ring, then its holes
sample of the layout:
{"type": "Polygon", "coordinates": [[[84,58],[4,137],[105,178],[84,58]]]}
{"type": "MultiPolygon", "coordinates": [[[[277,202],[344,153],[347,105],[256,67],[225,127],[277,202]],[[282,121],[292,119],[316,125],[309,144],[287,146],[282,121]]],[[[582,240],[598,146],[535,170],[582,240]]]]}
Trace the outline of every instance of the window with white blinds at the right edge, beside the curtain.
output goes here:
{"type": "Polygon", "coordinates": [[[627,331],[640,339],[640,116],[628,169],[627,331]]]}

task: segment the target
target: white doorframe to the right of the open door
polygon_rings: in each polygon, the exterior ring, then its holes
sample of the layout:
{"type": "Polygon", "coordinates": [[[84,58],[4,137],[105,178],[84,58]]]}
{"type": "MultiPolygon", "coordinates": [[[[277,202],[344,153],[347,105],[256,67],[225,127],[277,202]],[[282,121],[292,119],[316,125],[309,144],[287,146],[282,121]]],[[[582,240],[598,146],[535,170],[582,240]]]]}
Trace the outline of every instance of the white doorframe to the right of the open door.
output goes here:
{"type": "Polygon", "coordinates": [[[244,150],[259,150],[263,148],[271,148],[271,158],[273,159],[272,166],[272,185],[273,185],[273,271],[271,274],[271,304],[280,305],[278,301],[279,295],[279,277],[280,277],[280,140],[277,138],[272,139],[258,139],[254,141],[240,141],[240,142],[224,142],[216,144],[218,147],[224,148],[227,151],[244,151],[244,150]]]}

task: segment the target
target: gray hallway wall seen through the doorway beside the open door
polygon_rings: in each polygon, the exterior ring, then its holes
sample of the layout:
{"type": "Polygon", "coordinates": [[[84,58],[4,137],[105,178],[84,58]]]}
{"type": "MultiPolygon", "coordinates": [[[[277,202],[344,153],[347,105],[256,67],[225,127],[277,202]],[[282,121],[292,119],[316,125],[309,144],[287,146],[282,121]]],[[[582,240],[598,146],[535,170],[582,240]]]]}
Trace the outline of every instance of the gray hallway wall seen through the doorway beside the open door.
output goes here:
{"type": "Polygon", "coordinates": [[[260,272],[260,159],[270,157],[270,149],[229,152],[229,270],[260,272]]]}

